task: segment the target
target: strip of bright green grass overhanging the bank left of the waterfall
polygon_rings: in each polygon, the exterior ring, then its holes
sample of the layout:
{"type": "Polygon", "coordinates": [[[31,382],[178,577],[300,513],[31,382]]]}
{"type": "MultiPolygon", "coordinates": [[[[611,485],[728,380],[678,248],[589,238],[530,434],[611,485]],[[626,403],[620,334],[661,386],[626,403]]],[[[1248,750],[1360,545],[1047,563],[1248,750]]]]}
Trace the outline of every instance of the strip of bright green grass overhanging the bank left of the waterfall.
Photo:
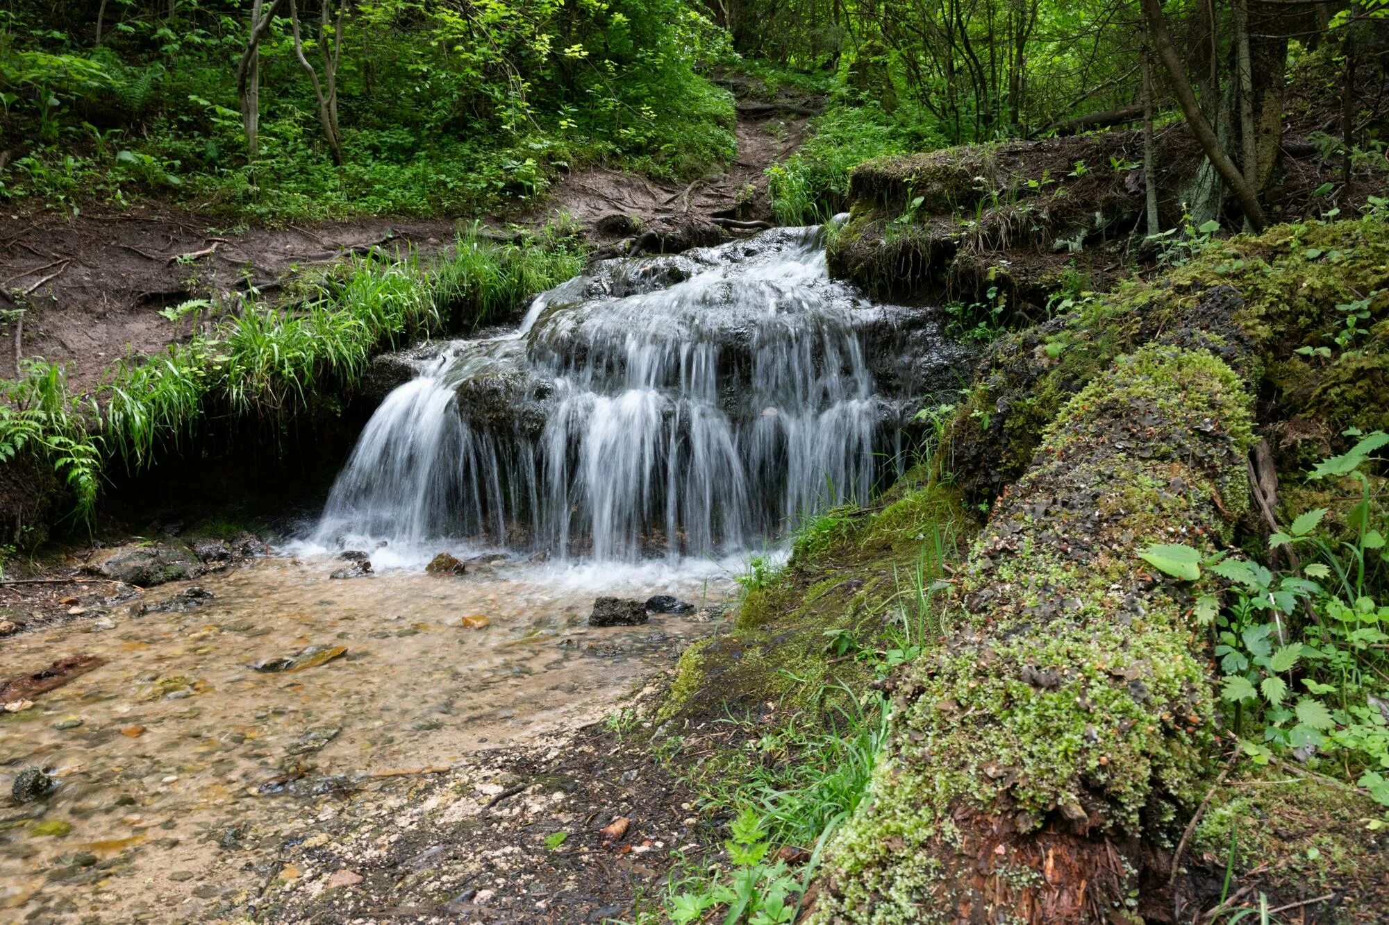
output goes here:
{"type": "Polygon", "coordinates": [[[64,367],[31,360],[0,383],[0,510],[6,542],[32,547],[68,508],[90,524],[108,475],[189,450],[208,418],[274,446],[292,421],[336,415],[372,356],[413,338],[474,329],[583,267],[563,225],[519,244],[467,229],[443,257],[369,253],[293,278],[278,301],[196,299],[165,310],[183,333],[121,358],[74,394],[64,367]]]}

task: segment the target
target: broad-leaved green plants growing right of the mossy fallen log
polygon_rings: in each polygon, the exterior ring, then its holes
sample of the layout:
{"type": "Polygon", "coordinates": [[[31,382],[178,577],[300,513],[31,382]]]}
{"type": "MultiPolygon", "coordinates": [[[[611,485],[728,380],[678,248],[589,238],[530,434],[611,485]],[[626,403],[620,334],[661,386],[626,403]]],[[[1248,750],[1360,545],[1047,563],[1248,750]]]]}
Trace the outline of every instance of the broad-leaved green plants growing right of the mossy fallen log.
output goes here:
{"type": "Polygon", "coordinates": [[[1307,476],[1360,486],[1343,535],[1328,532],[1328,508],[1313,508],[1270,538],[1270,551],[1286,550],[1300,574],[1181,543],[1150,544],[1139,557],[1183,582],[1222,582],[1199,594],[1193,614],[1214,633],[1221,700],[1233,711],[1229,725],[1243,753],[1260,762],[1279,751],[1313,762],[1325,756],[1331,769],[1389,807],[1389,604],[1381,603],[1389,556],[1367,475],[1389,435],[1349,435],[1360,439],[1307,476]]]}

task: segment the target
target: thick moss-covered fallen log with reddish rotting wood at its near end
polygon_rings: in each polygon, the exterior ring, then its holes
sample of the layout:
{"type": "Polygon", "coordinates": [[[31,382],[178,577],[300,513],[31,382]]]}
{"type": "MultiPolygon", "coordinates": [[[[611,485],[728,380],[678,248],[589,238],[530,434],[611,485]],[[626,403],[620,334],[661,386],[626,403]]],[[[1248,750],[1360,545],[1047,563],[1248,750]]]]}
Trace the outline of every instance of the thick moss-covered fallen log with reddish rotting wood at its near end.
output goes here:
{"type": "Polygon", "coordinates": [[[1247,504],[1253,396],[1218,333],[1122,356],[1063,407],[971,547],[956,631],[899,686],[810,921],[1106,921],[1140,836],[1199,804],[1217,699],[1189,589],[1136,554],[1211,544],[1247,504]]]}

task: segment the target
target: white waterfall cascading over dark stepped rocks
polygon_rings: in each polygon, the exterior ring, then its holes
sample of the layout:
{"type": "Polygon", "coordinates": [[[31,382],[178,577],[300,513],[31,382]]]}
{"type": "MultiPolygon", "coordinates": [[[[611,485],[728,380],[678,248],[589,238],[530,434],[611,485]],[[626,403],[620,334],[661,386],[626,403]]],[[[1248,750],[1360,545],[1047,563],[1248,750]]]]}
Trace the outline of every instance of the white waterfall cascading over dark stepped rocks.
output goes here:
{"type": "Polygon", "coordinates": [[[606,261],[515,332],[417,361],[313,539],[596,560],[767,543],[867,500],[903,403],[958,360],[935,324],[832,282],[818,229],[606,261]]]}

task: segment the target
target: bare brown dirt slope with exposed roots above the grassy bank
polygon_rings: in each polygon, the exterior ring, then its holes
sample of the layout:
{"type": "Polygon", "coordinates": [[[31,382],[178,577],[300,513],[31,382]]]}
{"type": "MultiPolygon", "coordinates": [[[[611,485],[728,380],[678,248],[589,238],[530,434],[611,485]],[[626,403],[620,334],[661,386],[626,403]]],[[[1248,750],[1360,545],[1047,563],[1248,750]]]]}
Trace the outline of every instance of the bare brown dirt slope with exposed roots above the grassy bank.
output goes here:
{"type": "MultiPolygon", "coordinates": [[[[521,224],[563,210],[600,243],[661,229],[646,250],[746,233],[758,225],[714,222],[770,218],[764,171],[800,144],[817,106],[799,97],[740,103],[738,158],[725,172],[676,185],[601,167],[579,171],[521,224]]],[[[44,357],[71,362],[69,382],[89,390],[128,351],[150,354],[179,338],[163,308],[194,297],[225,301],[250,286],[274,292],[296,268],[372,247],[415,247],[428,257],[453,242],[461,221],[367,218],[231,232],[158,204],[76,218],[0,214],[0,376],[14,376],[19,357],[44,357]],[[22,331],[14,317],[21,308],[22,331]]]]}

